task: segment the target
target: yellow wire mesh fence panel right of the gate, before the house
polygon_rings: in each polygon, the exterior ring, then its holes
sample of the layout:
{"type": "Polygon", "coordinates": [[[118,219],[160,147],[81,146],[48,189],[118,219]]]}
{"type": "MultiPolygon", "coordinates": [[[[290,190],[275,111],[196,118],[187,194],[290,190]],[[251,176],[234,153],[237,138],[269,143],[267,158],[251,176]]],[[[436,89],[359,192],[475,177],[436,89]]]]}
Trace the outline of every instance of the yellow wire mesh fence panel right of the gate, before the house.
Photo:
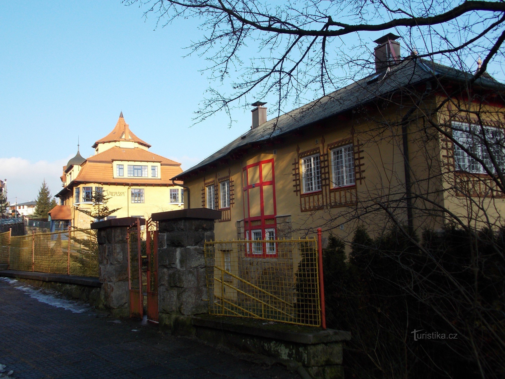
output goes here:
{"type": "Polygon", "coordinates": [[[206,242],[209,313],[321,325],[316,240],[206,242]]]}

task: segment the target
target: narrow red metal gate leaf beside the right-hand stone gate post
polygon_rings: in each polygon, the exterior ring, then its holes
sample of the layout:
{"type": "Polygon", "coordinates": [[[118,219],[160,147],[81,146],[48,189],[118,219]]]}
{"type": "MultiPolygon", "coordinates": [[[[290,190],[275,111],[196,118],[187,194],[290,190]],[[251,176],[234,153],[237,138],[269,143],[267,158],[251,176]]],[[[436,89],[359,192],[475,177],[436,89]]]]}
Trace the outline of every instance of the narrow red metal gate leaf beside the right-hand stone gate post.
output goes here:
{"type": "Polygon", "coordinates": [[[147,319],[158,323],[158,222],[145,225],[147,255],[147,319]]]}

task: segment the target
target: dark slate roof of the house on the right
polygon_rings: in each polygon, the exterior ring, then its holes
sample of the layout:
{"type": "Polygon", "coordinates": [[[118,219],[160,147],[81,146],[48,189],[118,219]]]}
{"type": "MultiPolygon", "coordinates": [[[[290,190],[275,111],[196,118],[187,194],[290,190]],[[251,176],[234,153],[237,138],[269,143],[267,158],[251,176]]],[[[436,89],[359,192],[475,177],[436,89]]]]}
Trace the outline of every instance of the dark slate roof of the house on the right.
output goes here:
{"type": "MultiPolygon", "coordinates": [[[[268,120],[254,130],[248,130],[228,145],[178,174],[173,179],[182,179],[186,174],[217,161],[251,143],[289,133],[295,129],[349,111],[400,88],[427,81],[434,76],[439,79],[461,82],[468,81],[472,77],[471,74],[464,71],[431,61],[419,58],[405,60],[392,67],[389,72],[373,73],[278,118],[268,120]]],[[[477,79],[475,85],[495,90],[505,90],[505,84],[496,81],[487,73],[477,79]]]]}

